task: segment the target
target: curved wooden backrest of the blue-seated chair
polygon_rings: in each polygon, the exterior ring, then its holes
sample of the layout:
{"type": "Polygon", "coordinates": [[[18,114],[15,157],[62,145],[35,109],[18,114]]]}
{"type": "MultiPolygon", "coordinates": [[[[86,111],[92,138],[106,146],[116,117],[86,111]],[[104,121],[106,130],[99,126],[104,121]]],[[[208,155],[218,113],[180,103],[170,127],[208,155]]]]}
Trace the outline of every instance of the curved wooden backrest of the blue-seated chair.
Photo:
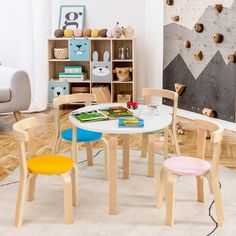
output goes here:
{"type": "Polygon", "coordinates": [[[60,106],[72,103],[85,103],[85,106],[91,105],[96,102],[97,98],[94,94],[90,93],[75,93],[64,96],[59,96],[53,99],[54,119],[55,119],[55,132],[58,136],[60,134],[60,106]]]}

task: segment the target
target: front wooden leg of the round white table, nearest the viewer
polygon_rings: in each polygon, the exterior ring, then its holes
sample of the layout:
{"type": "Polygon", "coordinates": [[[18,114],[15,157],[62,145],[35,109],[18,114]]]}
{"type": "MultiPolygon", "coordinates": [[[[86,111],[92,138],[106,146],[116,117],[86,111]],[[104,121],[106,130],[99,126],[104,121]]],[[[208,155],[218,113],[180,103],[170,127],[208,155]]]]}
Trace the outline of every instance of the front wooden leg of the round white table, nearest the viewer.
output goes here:
{"type": "Polygon", "coordinates": [[[110,135],[109,139],[109,213],[116,215],[116,195],[117,195],[117,137],[110,135]]]}

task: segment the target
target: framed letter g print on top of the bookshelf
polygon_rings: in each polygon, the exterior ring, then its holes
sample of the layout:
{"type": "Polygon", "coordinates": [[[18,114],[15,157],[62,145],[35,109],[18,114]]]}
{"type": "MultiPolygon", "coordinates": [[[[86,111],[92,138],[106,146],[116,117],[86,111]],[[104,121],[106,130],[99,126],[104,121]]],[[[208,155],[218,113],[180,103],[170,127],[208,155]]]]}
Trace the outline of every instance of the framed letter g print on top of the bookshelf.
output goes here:
{"type": "Polygon", "coordinates": [[[61,5],[59,15],[59,29],[83,29],[84,28],[84,5],[61,5]]]}

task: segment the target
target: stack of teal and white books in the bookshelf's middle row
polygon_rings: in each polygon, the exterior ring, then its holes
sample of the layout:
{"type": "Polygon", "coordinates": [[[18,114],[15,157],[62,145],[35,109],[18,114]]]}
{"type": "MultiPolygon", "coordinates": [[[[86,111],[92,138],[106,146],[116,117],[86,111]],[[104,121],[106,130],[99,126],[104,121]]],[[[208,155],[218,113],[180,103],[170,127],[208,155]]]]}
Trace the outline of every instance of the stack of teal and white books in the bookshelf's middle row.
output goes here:
{"type": "Polygon", "coordinates": [[[59,80],[67,80],[68,83],[82,82],[87,79],[87,74],[82,71],[82,66],[65,66],[63,72],[59,72],[59,80]]]}

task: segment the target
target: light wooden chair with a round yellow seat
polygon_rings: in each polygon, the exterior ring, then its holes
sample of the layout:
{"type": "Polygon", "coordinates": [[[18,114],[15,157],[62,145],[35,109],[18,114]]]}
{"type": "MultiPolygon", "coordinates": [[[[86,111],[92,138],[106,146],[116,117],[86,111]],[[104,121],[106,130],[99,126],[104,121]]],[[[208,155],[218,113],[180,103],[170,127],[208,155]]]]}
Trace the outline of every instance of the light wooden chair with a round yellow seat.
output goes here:
{"type": "MultiPolygon", "coordinates": [[[[72,181],[68,174],[72,169],[77,170],[76,163],[70,158],[56,155],[36,156],[34,128],[38,127],[37,118],[27,118],[13,125],[17,139],[20,141],[20,181],[16,204],[15,225],[20,227],[23,219],[23,205],[34,200],[35,181],[37,175],[60,175],[64,182],[65,223],[73,223],[72,181]],[[26,152],[28,151],[28,152],[26,152]],[[27,155],[28,153],[28,155],[27,155]],[[28,188],[28,193],[27,193],[28,188]]],[[[77,171],[75,170],[75,173],[77,171]]],[[[77,175],[75,175],[77,178],[77,175]]],[[[76,182],[74,180],[74,182],[76,182]]],[[[73,186],[74,188],[74,186],[73,186]]]]}

